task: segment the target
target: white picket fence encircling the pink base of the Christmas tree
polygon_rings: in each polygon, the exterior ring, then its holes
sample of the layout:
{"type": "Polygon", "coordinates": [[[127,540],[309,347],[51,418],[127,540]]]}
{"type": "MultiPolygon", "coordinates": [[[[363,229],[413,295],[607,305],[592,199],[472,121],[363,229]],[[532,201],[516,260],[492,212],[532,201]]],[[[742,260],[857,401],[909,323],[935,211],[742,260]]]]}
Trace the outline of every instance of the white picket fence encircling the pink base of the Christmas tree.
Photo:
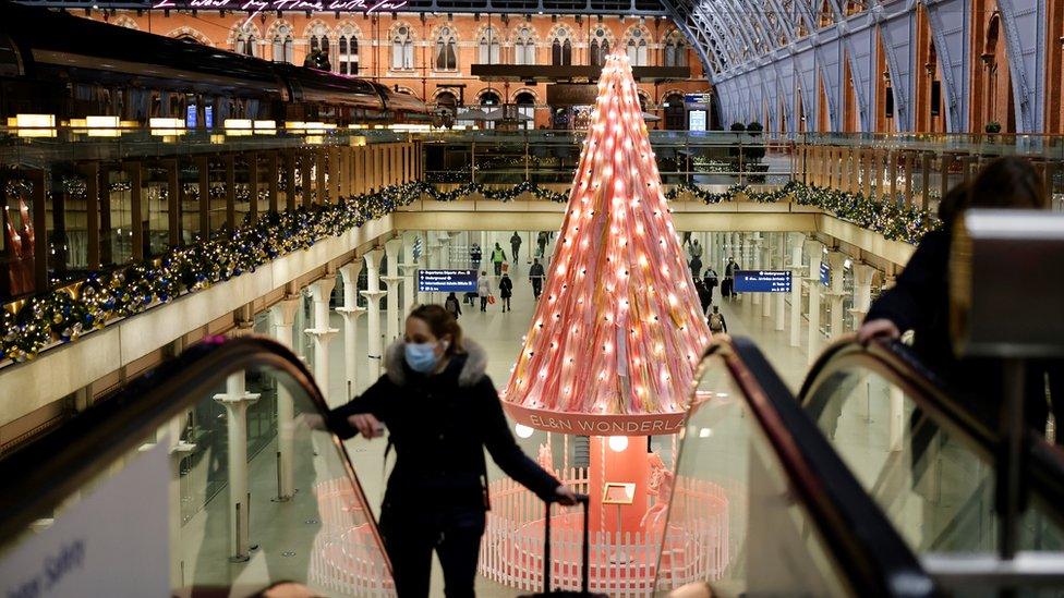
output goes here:
{"type": "MultiPolygon", "coordinates": [[[[584,469],[559,477],[587,492],[584,469]]],[[[510,479],[492,484],[492,511],[481,542],[480,573],[521,590],[543,587],[543,501],[510,479]]],[[[728,563],[728,501],[724,490],[704,480],[682,480],[673,495],[676,517],[664,533],[593,530],[589,547],[590,589],[621,598],[651,596],[655,577],[668,589],[721,576],[728,563]],[[680,524],[682,521],[682,524],[680,524]],[[661,554],[662,575],[657,576],[661,554]]],[[[551,518],[552,586],[579,589],[583,514],[570,509],[551,518]]]]}

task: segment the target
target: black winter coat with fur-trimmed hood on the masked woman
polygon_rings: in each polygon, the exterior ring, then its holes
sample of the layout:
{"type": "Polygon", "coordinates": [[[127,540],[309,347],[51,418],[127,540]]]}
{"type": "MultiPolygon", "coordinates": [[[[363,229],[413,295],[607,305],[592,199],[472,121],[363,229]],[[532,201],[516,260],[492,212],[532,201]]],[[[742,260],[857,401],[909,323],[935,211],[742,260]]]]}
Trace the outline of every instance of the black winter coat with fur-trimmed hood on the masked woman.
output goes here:
{"type": "Polygon", "coordinates": [[[561,485],[517,446],[484,371],[484,351],[469,341],[466,349],[444,371],[425,376],[407,366],[403,343],[395,342],[385,356],[386,373],[328,414],[329,428],[341,438],[358,434],[347,419],[353,414],[371,413],[388,427],[396,466],[385,509],[487,510],[485,448],[508,476],[544,500],[561,485]]]}

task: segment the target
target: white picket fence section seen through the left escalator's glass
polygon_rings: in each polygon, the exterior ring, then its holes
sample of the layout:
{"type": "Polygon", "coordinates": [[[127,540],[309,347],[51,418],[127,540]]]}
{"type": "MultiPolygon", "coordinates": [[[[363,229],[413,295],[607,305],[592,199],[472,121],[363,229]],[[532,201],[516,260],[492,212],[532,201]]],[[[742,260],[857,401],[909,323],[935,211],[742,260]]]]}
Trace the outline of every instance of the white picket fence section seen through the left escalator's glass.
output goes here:
{"type": "Polygon", "coordinates": [[[395,596],[382,548],[347,479],[322,481],[314,493],[322,527],[311,551],[311,585],[330,596],[395,596]]]}

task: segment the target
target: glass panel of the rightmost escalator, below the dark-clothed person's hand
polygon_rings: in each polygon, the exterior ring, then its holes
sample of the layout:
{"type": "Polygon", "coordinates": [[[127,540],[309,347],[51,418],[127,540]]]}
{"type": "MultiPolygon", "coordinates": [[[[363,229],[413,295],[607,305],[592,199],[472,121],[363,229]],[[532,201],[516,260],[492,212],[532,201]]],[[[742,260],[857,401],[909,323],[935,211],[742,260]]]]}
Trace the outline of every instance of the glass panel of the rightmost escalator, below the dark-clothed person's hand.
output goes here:
{"type": "MultiPolygon", "coordinates": [[[[929,403],[921,386],[844,356],[809,383],[802,404],[914,551],[995,552],[993,446],[929,403]]],[[[1033,493],[1020,550],[1062,549],[1056,512],[1033,493]]]]}

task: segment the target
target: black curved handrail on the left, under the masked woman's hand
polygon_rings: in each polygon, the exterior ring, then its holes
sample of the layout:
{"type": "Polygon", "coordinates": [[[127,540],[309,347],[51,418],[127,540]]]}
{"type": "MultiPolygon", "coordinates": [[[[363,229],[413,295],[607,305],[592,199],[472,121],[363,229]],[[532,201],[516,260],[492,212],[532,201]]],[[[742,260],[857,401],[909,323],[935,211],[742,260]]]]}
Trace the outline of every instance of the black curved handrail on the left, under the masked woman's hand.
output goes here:
{"type": "MultiPolygon", "coordinates": [[[[318,413],[328,411],[311,371],[285,345],[262,337],[207,338],[0,460],[0,549],[17,541],[40,513],[57,508],[229,375],[252,369],[286,375],[278,381],[293,395],[303,393],[318,413]]],[[[331,439],[356,498],[368,504],[347,451],[336,435],[331,439]]],[[[366,517],[390,574],[391,564],[368,510],[366,517]]]]}

